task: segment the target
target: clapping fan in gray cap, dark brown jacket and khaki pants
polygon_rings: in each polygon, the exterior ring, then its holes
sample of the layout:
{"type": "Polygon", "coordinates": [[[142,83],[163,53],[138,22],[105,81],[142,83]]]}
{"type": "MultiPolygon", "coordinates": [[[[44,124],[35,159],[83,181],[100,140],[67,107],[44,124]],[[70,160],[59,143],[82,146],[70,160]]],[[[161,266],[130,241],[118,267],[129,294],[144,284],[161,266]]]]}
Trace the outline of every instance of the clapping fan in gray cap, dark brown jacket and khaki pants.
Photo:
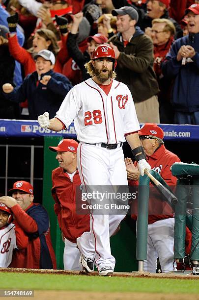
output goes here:
{"type": "Polygon", "coordinates": [[[130,89],[140,123],[159,123],[158,83],[153,70],[153,43],[140,27],[138,12],[130,6],[112,11],[117,35],[109,40],[117,59],[117,80],[130,89]]]}

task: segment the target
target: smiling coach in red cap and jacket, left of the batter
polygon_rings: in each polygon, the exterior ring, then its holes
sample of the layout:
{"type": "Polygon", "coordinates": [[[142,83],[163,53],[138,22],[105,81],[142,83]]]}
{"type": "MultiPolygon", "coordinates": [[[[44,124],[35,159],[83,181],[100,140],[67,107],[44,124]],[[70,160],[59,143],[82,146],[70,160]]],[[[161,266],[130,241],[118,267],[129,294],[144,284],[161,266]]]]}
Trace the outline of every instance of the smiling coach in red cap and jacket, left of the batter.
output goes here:
{"type": "Polygon", "coordinates": [[[52,195],[58,224],[65,243],[63,253],[64,270],[82,270],[79,265],[80,251],[76,248],[76,240],[85,231],[90,230],[89,215],[80,215],[76,210],[76,196],[81,195],[81,180],[77,170],[78,143],[63,139],[57,147],[49,147],[57,151],[56,159],[59,167],[52,173],[52,195]]]}

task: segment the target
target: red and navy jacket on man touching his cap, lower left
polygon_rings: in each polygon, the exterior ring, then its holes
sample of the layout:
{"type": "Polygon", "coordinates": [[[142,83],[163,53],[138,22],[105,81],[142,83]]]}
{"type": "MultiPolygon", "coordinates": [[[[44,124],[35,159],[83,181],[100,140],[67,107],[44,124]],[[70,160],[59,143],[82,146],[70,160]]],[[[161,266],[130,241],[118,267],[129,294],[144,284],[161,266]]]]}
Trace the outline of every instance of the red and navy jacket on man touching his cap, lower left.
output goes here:
{"type": "Polygon", "coordinates": [[[19,250],[13,251],[9,267],[44,269],[41,266],[45,263],[45,269],[56,269],[56,257],[46,210],[35,203],[31,203],[25,211],[18,204],[11,209],[15,217],[16,244],[19,250]]]}

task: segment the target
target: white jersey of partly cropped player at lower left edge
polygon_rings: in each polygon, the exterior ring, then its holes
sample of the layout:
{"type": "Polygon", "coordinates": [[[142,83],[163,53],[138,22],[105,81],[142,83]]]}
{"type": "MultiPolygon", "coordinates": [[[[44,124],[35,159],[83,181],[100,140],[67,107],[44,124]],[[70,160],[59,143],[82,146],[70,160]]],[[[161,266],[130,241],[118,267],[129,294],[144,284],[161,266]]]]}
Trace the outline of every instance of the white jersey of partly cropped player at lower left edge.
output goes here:
{"type": "Polygon", "coordinates": [[[15,225],[9,224],[0,229],[0,268],[7,268],[12,260],[13,249],[17,248],[15,225]]]}

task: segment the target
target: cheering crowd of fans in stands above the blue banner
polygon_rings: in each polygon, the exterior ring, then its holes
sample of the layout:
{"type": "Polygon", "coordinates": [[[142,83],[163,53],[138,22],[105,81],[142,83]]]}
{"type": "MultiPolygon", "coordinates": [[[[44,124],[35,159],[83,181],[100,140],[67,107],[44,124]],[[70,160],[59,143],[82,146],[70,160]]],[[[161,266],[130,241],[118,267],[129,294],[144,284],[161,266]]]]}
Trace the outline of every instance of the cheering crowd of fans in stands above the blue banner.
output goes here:
{"type": "Polygon", "coordinates": [[[199,125],[198,39],[198,0],[0,0],[0,118],[53,117],[109,43],[140,123],[199,125]]]}

